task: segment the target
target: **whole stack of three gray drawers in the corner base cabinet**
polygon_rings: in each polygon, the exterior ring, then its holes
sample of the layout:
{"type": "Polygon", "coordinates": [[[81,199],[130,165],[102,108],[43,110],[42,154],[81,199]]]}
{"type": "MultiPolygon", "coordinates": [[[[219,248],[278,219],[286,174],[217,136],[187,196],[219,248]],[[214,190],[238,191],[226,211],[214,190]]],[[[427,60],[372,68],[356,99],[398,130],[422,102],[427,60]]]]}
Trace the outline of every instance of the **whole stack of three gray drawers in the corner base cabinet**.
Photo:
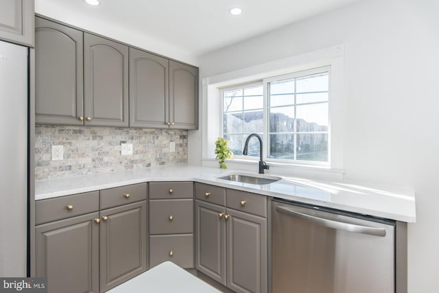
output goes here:
{"type": "Polygon", "coordinates": [[[152,182],[150,268],[172,261],[193,268],[193,183],[152,182]]]}

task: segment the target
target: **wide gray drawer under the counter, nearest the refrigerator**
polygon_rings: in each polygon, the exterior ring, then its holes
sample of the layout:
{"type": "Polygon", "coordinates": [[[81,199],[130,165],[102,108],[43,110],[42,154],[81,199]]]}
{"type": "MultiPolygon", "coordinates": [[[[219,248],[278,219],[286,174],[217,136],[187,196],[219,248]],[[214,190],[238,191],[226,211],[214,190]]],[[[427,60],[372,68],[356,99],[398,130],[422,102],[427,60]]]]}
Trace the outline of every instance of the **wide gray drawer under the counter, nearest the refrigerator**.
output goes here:
{"type": "Polygon", "coordinates": [[[97,210],[99,210],[99,191],[36,200],[35,224],[70,218],[97,210]]]}

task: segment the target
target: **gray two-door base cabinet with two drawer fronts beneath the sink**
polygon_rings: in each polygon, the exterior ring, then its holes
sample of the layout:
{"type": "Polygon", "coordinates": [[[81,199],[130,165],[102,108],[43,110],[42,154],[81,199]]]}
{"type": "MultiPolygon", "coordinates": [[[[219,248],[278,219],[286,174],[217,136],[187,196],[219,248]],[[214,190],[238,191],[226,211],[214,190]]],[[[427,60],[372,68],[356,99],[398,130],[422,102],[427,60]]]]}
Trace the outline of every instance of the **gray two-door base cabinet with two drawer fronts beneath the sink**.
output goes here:
{"type": "Polygon", "coordinates": [[[234,292],[268,292],[267,199],[202,183],[195,198],[195,268],[234,292]]]}

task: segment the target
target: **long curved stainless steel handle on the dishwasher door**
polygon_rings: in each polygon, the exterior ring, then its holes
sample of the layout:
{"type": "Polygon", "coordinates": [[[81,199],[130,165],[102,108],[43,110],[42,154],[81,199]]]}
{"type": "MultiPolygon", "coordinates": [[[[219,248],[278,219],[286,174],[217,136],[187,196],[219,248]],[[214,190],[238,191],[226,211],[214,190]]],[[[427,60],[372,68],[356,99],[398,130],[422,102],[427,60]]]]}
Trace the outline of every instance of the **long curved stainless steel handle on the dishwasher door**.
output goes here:
{"type": "Polygon", "coordinates": [[[338,230],[344,230],[349,231],[353,233],[361,233],[361,234],[368,234],[368,235],[374,235],[374,236],[380,236],[385,237],[385,229],[383,228],[375,228],[375,227],[369,227],[369,226],[361,226],[357,224],[349,224],[344,222],[338,222],[334,220],[328,220],[324,218],[318,218],[313,215],[307,215],[306,213],[299,213],[298,211],[293,211],[292,209],[288,209],[287,207],[281,207],[277,206],[276,211],[280,213],[285,213],[286,215],[291,215],[296,218],[309,220],[310,222],[313,222],[314,224],[318,224],[320,226],[338,229],[338,230]]]}

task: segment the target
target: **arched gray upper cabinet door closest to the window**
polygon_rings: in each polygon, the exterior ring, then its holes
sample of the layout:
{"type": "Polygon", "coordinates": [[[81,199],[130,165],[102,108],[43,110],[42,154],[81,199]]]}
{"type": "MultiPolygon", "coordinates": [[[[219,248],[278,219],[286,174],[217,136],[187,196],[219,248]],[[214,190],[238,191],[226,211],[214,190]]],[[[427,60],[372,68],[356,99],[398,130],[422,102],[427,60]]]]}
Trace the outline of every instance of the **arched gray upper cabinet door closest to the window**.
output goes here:
{"type": "Polygon", "coordinates": [[[171,128],[198,129],[198,68],[169,61],[171,128]]]}

